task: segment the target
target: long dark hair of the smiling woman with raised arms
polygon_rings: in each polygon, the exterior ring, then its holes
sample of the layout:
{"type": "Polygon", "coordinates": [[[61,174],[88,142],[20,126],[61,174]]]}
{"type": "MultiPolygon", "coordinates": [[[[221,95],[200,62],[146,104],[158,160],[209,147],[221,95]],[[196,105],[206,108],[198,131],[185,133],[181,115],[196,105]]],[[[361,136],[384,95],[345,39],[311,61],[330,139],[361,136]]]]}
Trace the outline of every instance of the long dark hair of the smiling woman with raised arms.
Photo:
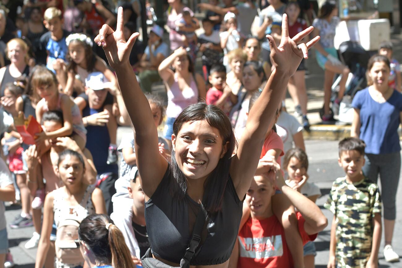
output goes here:
{"type": "MultiPolygon", "coordinates": [[[[184,123],[200,120],[206,120],[211,127],[218,129],[223,140],[222,145],[225,145],[229,141],[228,150],[224,157],[219,159],[216,168],[209,174],[204,185],[205,191],[207,191],[207,200],[206,204],[204,204],[205,209],[211,213],[215,213],[222,208],[224,191],[229,179],[230,159],[236,145],[236,140],[228,116],[217,106],[207,105],[205,102],[198,102],[187,106],[180,113],[173,123],[174,135],[177,137],[184,123]]],[[[172,151],[170,169],[177,181],[177,184],[172,184],[173,187],[171,189],[173,194],[179,198],[183,198],[187,192],[187,179],[178,167],[174,151],[172,151]]]]}

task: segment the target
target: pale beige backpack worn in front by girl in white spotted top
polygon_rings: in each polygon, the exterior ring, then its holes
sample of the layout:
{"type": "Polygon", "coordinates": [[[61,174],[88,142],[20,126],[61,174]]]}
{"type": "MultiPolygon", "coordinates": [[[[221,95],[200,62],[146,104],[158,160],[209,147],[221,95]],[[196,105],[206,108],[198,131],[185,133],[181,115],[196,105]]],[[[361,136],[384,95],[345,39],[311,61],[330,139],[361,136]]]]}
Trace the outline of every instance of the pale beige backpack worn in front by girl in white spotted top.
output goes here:
{"type": "Polygon", "coordinates": [[[79,264],[84,262],[80,252],[80,246],[74,240],[78,239],[78,227],[82,217],[70,209],[70,214],[66,215],[57,226],[55,250],[59,262],[64,264],[79,264]]]}

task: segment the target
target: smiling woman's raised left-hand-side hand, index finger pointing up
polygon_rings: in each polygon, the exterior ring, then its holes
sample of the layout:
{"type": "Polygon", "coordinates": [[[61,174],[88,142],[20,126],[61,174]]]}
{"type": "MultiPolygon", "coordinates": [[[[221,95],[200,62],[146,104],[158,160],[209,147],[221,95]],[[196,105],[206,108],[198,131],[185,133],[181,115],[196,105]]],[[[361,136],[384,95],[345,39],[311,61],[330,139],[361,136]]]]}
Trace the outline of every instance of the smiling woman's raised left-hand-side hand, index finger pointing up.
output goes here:
{"type": "Polygon", "coordinates": [[[113,69],[126,65],[126,63],[128,64],[131,49],[139,36],[139,33],[133,33],[126,41],[123,34],[123,23],[123,8],[120,6],[117,11],[116,31],[113,31],[109,25],[104,24],[94,39],[98,46],[103,47],[109,65],[113,69]]]}

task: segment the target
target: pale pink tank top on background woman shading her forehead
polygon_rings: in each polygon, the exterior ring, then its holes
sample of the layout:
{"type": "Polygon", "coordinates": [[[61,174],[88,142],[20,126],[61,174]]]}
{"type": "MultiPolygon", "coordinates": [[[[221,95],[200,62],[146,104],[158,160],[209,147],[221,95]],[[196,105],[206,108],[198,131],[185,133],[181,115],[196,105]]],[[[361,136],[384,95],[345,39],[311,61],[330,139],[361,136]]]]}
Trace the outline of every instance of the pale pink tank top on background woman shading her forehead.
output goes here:
{"type": "Polygon", "coordinates": [[[178,88],[177,81],[177,74],[174,74],[174,83],[168,90],[168,107],[166,108],[166,115],[173,118],[178,117],[183,109],[190,104],[198,102],[198,88],[194,76],[191,76],[190,85],[183,90],[178,88]]]}

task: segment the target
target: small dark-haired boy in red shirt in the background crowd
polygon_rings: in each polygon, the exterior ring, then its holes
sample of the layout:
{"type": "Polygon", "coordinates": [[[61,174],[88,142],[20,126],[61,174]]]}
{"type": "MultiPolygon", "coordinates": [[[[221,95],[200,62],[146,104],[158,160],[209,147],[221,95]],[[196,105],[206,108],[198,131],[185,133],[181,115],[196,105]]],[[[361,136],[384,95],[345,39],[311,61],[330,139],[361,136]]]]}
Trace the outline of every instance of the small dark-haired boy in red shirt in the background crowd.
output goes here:
{"type": "Polygon", "coordinates": [[[209,71],[209,83],[212,87],[207,92],[207,104],[215,104],[221,108],[226,115],[229,115],[233,104],[237,103],[237,96],[226,84],[226,67],[222,64],[215,64],[209,71]]]}

